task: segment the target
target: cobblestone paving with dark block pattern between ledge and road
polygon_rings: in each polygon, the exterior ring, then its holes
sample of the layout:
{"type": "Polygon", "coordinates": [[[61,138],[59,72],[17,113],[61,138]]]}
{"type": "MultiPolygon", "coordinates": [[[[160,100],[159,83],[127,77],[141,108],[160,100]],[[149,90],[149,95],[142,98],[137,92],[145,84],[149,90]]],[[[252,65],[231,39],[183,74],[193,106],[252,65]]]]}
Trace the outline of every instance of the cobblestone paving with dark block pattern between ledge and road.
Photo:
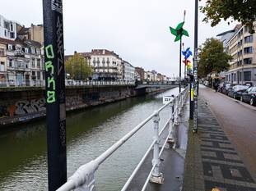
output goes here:
{"type": "Polygon", "coordinates": [[[256,183],[207,103],[199,98],[198,134],[189,130],[183,190],[212,189],[256,191],[256,183]]]}

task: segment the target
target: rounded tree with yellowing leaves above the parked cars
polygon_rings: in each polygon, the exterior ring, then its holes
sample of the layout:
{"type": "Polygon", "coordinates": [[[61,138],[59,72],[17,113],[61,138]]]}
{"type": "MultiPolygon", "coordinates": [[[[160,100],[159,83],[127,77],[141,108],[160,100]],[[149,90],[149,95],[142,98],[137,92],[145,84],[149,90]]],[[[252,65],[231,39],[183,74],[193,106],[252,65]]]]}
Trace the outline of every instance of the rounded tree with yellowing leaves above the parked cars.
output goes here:
{"type": "Polygon", "coordinates": [[[213,72],[217,74],[229,68],[232,57],[223,52],[223,44],[218,39],[207,39],[199,48],[198,76],[206,77],[213,72]]]}

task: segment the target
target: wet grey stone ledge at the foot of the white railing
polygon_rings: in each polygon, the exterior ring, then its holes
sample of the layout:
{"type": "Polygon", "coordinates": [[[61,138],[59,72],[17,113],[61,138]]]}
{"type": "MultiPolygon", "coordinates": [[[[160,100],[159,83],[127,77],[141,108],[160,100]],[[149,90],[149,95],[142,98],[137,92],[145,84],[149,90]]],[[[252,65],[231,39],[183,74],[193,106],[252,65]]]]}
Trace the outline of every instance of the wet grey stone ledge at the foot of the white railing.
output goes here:
{"type": "MultiPolygon", "coordinates": [[[[176,136],[178,137],[177,148],[170,148],[167,143],[164,152],[161,155],[160,171],[164,175],[164,184],[148,183],[147,191],[177,191],[182,189],[184,180],[184,157],[187,148],[188,127],[189,127],[189,102],[184,106],[182,116],[179,118],[179,125],[176,126],[176,136]]],[[[168,134],[166,128],[161,135],[160,145],[168,134]]],[[[142,190],[145,180],[151,171],[152,151],[148,154],[147,159],[143,162],[139,171],[133,178],[127,190],[140,191],[142,190]]]]}

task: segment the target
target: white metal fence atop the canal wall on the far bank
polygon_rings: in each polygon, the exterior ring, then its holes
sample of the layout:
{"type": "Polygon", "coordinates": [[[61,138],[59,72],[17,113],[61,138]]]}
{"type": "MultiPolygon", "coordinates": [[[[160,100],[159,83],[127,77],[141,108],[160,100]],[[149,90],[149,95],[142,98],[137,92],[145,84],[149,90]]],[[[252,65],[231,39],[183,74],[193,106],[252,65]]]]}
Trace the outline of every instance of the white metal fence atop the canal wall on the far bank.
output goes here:
{"type": "MultiPolygon", "coordinates": [[[[66,86],[85,86],[85,85],[134,85],[135,81],[82,81],[65,80],[66,86]]],[[[3,87],[44,87],[44,80],[4,80],[0,81],[0,88],[3,87]]]]}

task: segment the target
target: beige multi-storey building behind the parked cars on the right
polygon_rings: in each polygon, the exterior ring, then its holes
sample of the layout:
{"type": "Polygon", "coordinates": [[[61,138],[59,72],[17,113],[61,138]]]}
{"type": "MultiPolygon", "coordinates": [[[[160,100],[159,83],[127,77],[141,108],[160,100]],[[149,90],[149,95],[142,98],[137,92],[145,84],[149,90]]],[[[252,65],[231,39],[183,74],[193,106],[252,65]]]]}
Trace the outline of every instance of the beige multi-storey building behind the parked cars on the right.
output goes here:
{"type": "Polygon", "coordinates": [[[237,25],[234,30],[218,36],[225,51],[233,57],[225,75],[226,82],[256,85],[256,34],[249,34],[247,26],[237,25]]]}

